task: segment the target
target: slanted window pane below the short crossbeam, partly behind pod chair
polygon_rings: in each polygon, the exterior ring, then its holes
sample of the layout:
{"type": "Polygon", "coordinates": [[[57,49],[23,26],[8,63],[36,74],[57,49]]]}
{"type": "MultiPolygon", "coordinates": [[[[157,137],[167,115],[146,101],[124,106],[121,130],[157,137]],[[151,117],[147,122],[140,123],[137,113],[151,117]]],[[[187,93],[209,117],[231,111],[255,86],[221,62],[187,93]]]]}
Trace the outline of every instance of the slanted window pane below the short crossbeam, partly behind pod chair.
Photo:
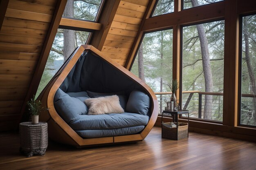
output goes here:
{"type": "Polygon", "coordinates": [[[86,43],[88,35],[88,32],[58,29],[36,92],[36,97],[43,91],[43,88],[45,88],[75,48],[86,43]]]}

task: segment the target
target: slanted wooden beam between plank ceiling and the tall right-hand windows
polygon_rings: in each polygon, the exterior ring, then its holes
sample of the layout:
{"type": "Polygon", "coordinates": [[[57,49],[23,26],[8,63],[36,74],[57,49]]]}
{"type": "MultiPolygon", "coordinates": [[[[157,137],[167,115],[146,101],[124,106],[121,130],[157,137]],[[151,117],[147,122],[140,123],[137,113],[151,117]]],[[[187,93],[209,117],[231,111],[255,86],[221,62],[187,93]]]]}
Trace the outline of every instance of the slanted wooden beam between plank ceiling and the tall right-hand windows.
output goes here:
{"type": "Polygon", "coordinates": [[[135,57],[136,57],[135,55],[137,53],[137,50],[138,50],[139,45],[140,45],[140,42],[142,41],[141,39],[142,39],[143,34],[144,34],[144,31],[142,31],[143,25],[145,24],[146,19],[150,17],[150,14],[151,14],[154,6],[155,6],[155,2],[156,2],[156,0],[150,0],[148,2],[148,7],[147,7],[147,9],[145,11],[144,18],[141,21],[141,25],[139,26],[139,30],[138,30],[137,36],[136,36],[135,41],[134,41],[134,43],[132,45],[132,48],[130,50],[129,55],[127,56],[126,64],[124,65],[124,67],[126,69],[128,69],[128,70],[131,69],[132,63],[135,60],[135,57]]]}

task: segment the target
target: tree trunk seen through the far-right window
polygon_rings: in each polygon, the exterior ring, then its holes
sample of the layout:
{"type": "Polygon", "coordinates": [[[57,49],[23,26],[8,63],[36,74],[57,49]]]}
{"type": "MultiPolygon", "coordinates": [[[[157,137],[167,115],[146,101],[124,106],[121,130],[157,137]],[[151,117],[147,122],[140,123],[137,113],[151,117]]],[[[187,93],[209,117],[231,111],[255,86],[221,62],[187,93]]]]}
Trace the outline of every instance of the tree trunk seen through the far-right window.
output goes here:
{"type": "MultiPolygon", "coordinates": [[[[249,51],[249,36],[248,36],[248,18],[244,17],[243,18],[243,35],[245,38],[245,61],[247,64],[247,69],[250,77],[250,85],[251,85],[251,92],[253,94],[256,94],[256,84],[255,84],[255,75],[254,71],[251,65],[251,56],[250,56],[250,51],[249,51]]],[[[256,112],[256,98],[253,98],[254,102],[254,112],[256,112]]],[[[254,115],[254,120],[256,122],[256,115],[254,115]]]]}

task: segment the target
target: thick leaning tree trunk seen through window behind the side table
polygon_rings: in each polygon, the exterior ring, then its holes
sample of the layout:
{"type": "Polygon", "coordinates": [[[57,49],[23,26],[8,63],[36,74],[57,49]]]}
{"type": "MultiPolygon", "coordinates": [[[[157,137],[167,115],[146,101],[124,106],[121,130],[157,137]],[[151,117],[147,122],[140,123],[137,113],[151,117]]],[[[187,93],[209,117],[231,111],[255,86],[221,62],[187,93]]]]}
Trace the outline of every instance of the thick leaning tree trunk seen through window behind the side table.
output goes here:
{"type": "MultiPolygon", "coordinates": [[[[198,0],[191,0],[192,6],[198,6],[198,0]]],[[[208,41],[206,34],[204,32],[204,26],[202,24],[196,25],[198,30],[201,52],[202,52],[202,65],[204,71],[204,83],[205,83],[205,92],[213,91],[213,79],[211,74],[211,65],[210,65],[210,57],[209,57],[209,49],[208,49],[208,41]]],[[[211,103],[212,96],[205,95],[204,97],[204,119],[211,119],[211,103]]]]}

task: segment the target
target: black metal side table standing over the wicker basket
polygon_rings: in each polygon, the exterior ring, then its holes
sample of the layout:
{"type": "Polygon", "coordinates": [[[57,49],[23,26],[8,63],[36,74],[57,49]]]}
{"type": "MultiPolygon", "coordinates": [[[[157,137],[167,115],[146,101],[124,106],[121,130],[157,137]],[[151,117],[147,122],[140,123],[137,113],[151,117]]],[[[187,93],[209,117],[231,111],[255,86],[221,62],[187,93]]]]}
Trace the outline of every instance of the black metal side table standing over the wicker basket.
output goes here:
{"type": "MultiPolygon", "coordinates": [[[[179,127],[178,115],[182,115],[182,114],[188,114],[188,132],[189,132],[189,110],[163,110],[162,117],[161,117],[162,136],[163,136],[163,115],[171,115],[173,118],[173,122],[176,122],[176,125],[177,125],[176,140],[178,140],[178,127],[179,127]]],[[[188,133],[188,137],[189,137],[189,133],[188,133]]]]}

